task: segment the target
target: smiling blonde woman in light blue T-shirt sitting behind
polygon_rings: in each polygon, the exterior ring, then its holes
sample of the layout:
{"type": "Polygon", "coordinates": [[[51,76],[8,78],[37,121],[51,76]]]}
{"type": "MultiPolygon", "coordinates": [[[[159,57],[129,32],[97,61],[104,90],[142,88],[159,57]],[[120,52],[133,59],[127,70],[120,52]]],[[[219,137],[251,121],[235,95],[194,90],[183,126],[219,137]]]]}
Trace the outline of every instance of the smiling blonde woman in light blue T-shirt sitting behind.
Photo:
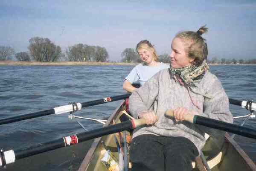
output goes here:
{"type": "Polygon", "coordinates": [[[140,41],[136,47],[137,53],[140,55],[143,64],[134,67],[123,82],[123,89],[133,92],[136,88],[132,86],[137,81],[143,85],[153,75],[160,70],[169,68],[169,64],[158,62],[158,56],[154,46],[147,40],[140,41]]]}

